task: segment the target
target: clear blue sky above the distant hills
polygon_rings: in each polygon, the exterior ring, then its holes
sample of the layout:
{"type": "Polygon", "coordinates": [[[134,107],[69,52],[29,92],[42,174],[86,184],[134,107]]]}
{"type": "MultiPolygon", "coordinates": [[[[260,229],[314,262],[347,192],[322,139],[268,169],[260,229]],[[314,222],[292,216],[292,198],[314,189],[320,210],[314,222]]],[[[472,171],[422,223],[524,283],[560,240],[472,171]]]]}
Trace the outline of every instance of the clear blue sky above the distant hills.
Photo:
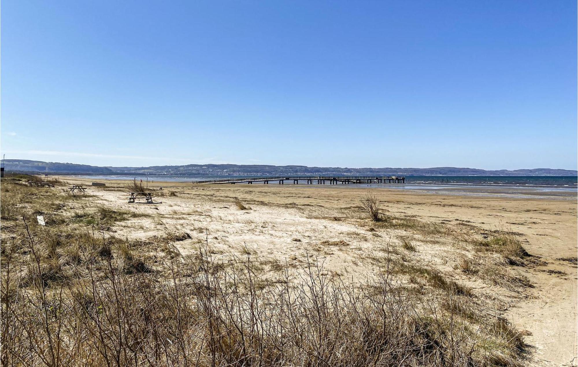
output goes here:
{"type": "Polygon", "coordinates": [[[1,153],[576,169],[576,1],[2,1],[1,153]]]}

